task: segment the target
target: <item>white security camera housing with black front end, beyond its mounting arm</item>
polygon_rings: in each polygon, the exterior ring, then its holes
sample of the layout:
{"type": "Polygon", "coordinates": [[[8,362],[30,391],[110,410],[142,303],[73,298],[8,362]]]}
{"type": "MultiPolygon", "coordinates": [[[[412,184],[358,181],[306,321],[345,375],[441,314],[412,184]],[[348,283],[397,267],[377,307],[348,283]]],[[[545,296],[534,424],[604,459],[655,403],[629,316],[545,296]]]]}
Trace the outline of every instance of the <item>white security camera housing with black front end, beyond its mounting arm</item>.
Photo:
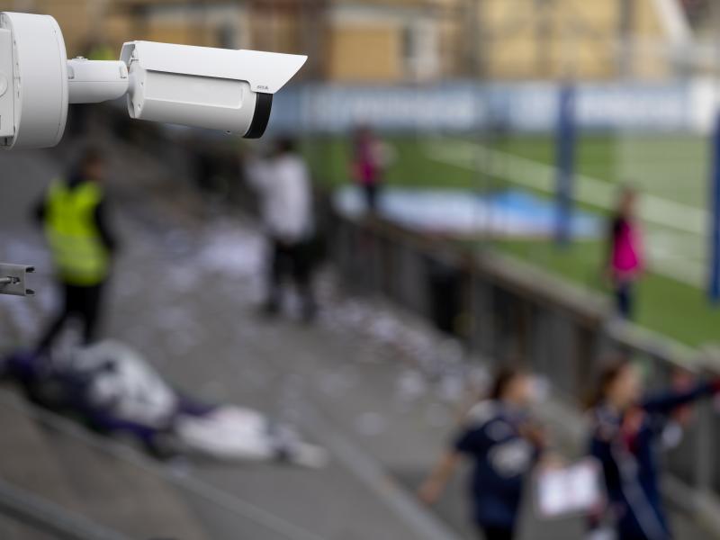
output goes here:
{"type": "Polygon", "coordinates": [[[125,43],[120,58],[130,71],[131,118],[225,130],[246,138],[262,136],[273,94],[307,59],[151,41],[125,43]]]}

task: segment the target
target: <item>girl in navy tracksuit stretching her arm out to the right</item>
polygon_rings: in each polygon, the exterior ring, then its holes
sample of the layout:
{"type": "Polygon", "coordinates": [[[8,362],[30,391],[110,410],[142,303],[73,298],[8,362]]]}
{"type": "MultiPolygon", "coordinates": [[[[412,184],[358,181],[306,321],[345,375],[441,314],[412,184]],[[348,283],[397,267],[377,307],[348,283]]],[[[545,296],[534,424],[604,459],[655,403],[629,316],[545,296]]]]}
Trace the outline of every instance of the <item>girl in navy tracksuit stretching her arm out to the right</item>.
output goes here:
{"type": "Polygon", "coordinates": [[[633,365],[621,360],[606,369],[591,410],[590,454],[602,464],[608,508],[593,517],[593,527],[605,517],[618,540],[671,539],[658,482],[659,438],[675,410],[717,389],[717,383],[702,383],[642,399],[633,365]]]}

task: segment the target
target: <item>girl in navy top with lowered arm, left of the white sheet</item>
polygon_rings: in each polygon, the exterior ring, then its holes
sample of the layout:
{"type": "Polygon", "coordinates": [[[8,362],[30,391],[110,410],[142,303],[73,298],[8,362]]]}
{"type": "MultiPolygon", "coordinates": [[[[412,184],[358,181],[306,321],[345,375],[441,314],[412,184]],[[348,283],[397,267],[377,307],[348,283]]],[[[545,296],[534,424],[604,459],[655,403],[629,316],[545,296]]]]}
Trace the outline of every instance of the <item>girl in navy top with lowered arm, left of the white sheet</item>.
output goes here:
{"type": "Polygon", "coordinates": [[[486,540],[511,540],[527,473],[543,441],[527,419],[530,377],[516,369],[498,374],[490,399],[470,410],[453,448],[419,490],[425,502],[442,494],[461,456],[473,460],[470,488],[473,521],[486,540]]]}

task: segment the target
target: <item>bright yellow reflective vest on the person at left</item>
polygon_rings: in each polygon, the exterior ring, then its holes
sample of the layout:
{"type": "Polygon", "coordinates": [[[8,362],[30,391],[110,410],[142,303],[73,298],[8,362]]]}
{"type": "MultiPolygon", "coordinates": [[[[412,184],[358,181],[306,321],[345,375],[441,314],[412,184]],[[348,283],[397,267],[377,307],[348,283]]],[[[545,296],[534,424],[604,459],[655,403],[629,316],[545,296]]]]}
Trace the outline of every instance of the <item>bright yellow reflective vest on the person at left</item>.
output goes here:
{"type": "Polygon", "coordinates": [[[63,283],[91,286],[107,277],[110,257],[94,220],[103,191],[94,182],[53,182],[45,204],[45,234],[63,283]]]}

